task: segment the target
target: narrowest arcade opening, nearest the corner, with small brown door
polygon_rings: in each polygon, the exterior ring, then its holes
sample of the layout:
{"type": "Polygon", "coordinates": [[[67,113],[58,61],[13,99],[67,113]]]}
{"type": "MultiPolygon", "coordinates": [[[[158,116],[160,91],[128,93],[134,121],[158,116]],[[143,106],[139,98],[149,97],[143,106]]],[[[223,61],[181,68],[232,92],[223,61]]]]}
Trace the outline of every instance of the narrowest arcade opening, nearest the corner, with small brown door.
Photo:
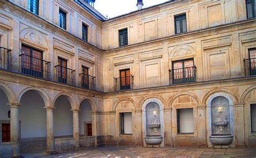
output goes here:
{"type": "Polygon", "coordinates": [[[79,107],[79,134],[82,136],[92,136],[92,107],[86,99],[81,102],[79,107]]]}

